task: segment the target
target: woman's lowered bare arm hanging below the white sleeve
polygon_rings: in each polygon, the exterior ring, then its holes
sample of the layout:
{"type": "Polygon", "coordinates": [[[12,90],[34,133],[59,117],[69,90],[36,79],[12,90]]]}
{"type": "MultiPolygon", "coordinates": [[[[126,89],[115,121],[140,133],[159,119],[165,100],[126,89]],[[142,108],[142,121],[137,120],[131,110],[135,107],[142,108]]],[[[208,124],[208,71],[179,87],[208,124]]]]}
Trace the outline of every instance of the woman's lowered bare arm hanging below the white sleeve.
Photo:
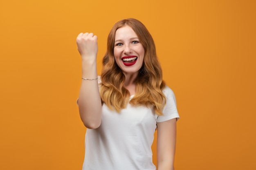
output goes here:
{"type": "Polygon", "coordinates": [[[176,121],[174,118],[157,123],[157,170],[174,170],[176,121]]]}

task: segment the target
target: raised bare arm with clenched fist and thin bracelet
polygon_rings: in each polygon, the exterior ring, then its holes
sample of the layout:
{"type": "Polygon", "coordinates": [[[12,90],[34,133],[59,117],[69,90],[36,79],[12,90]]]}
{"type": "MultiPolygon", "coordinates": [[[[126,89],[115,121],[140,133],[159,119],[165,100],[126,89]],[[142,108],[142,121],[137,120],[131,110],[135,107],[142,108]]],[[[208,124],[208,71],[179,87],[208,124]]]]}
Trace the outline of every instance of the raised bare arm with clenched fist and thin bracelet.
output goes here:
{"type": "Polygon", "coordinates": [[[79,93],[79,113],[87,128],[98,128],[101,124],[101,98],[97,81],[97,36],[80,33],[76,38],[77,49],[82,59],[82,79],[79,93]],[[93,79],[93,80],[90,80],[93,79]]]}

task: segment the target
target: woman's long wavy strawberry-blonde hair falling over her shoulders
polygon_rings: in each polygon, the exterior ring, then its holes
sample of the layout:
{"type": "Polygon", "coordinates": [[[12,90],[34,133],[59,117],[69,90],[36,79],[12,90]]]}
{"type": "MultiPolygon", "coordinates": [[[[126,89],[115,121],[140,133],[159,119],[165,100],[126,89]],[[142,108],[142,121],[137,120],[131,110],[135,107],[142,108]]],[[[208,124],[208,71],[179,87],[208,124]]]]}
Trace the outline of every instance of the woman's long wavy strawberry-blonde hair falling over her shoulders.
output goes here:
{"type": "Polygon", "coordinates": [[[117,112],[125,108],[129,102],[129,91],[123,86],[125,76],[114,57],[115,33],[117,29],[126,25],[135,31],[145,50],[144,64],[139,70],[135,95],[130,100],[130,104],[153,106],[155,113],[162,115],[162,109],[166,105],[166,97],[162,92],[165,83],[162,79],[162,68],[157,59],[155,43],[144,24],[133,18],[117,22],[108,35],[107,52],[103,57],[101,72],[101,100],[108,108],[117,112]]]}

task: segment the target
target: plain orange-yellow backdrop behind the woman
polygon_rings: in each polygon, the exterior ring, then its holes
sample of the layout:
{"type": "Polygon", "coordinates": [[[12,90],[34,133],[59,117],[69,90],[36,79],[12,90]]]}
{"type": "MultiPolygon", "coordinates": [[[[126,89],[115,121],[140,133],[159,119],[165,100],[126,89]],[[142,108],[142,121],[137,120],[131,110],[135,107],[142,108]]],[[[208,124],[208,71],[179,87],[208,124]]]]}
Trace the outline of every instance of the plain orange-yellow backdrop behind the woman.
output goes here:
{"type": "Polygon", "coordinates": [[[256,169],[255,8],[254,0],[1,0],[0,169],[81,169],[76,36],[98,35],[100,74],[107,35],[123,18],[146,25],[175,92],[175,169],[256,169]]]}

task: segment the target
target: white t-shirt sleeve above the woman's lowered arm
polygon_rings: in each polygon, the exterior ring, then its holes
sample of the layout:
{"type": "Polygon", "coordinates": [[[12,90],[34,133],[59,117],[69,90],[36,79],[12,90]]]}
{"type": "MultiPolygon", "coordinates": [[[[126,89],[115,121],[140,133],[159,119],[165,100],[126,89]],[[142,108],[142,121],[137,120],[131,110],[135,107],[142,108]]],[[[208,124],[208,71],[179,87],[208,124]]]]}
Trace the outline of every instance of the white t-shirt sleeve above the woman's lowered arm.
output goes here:
{"type": "Polygon", "coordinates": [[[167,121],[173,118],[177,118],[178,120],[180,116],[177,110],[176,98],[173,91],[171,88],[166,86],[163,92],[166,96],[166,106],[163,109],[164,115],[157,116],[157,122],[167,121]]]}

